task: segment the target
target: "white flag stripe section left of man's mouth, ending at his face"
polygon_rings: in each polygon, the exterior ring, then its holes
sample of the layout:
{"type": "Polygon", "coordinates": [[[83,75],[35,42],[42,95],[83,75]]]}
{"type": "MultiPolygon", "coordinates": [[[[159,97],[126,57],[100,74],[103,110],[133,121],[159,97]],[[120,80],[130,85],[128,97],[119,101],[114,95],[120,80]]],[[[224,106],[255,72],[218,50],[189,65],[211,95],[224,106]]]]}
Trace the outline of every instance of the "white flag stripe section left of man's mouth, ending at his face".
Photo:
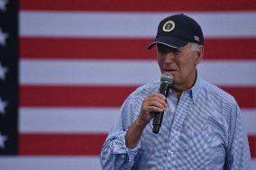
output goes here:
{"type": "Polygon", "coordinates": [[[142,85],[160,77],[152,61],[22,59],[20,67],[22,85],[142,85]]]}

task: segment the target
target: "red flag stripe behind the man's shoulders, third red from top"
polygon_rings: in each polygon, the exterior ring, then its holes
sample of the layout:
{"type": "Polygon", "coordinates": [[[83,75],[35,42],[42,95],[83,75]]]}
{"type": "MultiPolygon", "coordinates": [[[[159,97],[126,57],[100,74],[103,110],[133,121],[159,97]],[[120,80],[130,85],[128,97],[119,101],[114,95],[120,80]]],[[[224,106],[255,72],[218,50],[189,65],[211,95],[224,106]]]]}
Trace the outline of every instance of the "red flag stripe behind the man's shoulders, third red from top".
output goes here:
{"type": "MultiPolygon", "coordinates": [[[[135,86],[21,86],[21,106],[121,106],[135,86]]],[[[224,87],[240,107],[256,107],[256,87],[224,87]]]]}

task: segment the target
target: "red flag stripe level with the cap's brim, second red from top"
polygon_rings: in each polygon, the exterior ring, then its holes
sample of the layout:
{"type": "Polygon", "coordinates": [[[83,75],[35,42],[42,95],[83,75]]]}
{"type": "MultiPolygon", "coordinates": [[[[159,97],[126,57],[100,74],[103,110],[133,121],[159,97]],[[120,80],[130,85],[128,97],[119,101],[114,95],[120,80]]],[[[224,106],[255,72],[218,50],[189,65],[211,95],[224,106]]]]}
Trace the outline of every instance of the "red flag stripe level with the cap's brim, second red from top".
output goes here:
{"type": "MultiPolygon", "coordinates": [[[[154,59],[152,39],[26,38],[22,58],[154,59]]],[[[205,59],[256,59],[255,39],[206,39],[205,59]]]]}

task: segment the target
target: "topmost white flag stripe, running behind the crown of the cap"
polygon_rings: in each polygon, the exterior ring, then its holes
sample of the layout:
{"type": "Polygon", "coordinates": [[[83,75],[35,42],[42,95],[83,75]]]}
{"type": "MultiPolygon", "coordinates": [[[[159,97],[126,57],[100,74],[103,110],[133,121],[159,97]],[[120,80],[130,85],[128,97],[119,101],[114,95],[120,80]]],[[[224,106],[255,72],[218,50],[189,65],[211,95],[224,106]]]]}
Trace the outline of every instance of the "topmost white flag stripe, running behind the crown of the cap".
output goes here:
{"type": "MultiPolygon", "coordinates": [[[[19,28],[22,36],[154,37],[169,14],[22,11],[19,28]]],[[[206,37],[256,36],[256,12],[186,14],[197,20],[206,37]]]]}

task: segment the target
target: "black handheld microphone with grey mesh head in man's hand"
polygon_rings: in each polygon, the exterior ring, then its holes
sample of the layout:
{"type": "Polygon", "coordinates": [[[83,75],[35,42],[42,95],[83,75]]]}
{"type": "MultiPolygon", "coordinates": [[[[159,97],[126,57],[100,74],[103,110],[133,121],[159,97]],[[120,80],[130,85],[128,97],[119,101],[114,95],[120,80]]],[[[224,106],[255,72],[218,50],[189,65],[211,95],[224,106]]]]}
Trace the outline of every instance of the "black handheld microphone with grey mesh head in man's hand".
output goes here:
{"type": "MultiPolygon", "coordinates": [[[[164,96],[168,96],[169,94],[169,87],[173,81],[173,76],[168,73],[164,72],[160,76],[160,94],[164,96]]],[[[158,134],[160,130],[161,121],[163,118],[163,112],[153,112],[154,119],[153,119],[153,133],[158,134]]]]}

